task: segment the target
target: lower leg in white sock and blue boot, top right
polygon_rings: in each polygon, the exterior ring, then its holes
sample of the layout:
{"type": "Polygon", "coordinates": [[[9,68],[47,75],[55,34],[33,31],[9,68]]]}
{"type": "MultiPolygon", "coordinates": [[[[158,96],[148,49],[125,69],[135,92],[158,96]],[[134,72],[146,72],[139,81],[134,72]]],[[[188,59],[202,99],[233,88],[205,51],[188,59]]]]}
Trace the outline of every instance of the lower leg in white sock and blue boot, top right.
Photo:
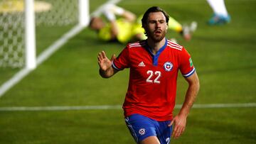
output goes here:
{"type": "Polygon", "coordinates": [[[230,23],[231,18],[225,7],[224,0],[207,0],[207,2],[214,12],[212,18],[208,21],[210,26],[230,23]]]}

